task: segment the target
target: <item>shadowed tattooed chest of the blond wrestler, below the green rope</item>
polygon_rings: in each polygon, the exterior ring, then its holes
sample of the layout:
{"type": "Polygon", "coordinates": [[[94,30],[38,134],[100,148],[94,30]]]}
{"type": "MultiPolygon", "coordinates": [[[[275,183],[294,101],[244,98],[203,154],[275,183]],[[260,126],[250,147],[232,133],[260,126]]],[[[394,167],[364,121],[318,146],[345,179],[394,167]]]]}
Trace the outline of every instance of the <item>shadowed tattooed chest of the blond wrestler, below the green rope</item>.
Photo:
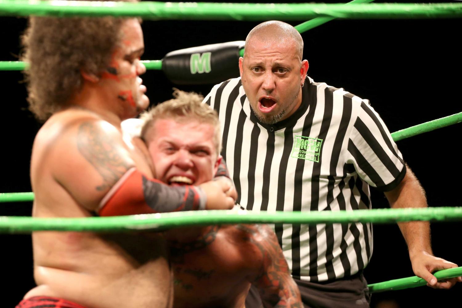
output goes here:
{"type": "Polygon", "coordinates": [[[239,249],[216,236],[170,246],[175,307],[243,307],[249,270],[239,249]]]}

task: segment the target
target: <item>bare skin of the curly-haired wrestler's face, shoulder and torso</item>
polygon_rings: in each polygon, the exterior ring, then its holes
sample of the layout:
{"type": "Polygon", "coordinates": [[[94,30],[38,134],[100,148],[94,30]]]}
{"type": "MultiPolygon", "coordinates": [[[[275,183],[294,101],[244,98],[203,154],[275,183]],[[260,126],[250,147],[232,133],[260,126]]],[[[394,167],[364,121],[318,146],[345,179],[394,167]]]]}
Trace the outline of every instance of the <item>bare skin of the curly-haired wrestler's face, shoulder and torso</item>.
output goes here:
{"type": "MultiPolygon", "coordinates": [[[[128,168],[152,176],[145,157],[124,143],[120,131],[120,122],[148,102],[138,77],[145,70],[139,62],[140,24],[128,19],[122,30],[131,43],[122,44],[113,59],[120,80],[82,73],[85,84],[71,107],[55,113],[36,136],[30,169],[34,217],[92,217],[128,168]],[[135,78],[124,79],[130,73],[135,78]],[[134,104],[117,99],[120,91],[130,91],[134,104]]],[[[172,305],[172,272],[161,236],[34,232],[32,240],[37,287],[24,298],[52,296],[85,308],[172,305]]]]}

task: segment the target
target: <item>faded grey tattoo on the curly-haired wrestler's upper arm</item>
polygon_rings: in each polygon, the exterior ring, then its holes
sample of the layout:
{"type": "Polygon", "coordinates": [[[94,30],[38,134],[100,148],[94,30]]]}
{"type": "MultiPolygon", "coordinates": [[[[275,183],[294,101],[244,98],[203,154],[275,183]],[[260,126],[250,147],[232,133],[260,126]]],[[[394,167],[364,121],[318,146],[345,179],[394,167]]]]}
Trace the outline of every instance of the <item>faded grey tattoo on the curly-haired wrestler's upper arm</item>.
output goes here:
{"type": "Polygon", "coordinates": [[[121,147],[109,138],[98,124],[82,123],[77,135],[79,152],[103,177],[103,183],[96,187],[104,191],[114,186],[132,166],[122,157],[121,147]]]}

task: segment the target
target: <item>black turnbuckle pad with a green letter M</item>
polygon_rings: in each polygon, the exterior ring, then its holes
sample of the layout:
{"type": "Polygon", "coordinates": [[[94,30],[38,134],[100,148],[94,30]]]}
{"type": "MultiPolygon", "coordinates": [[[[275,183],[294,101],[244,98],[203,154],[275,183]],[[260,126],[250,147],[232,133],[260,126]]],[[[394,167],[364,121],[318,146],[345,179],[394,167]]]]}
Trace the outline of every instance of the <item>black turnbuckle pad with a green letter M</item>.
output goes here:
{"type": "Polygon", "coordinates": [[[217,84],[239,77],[239,51],[244,41],[204,45],[172,51],[162,59],[162,70],[177,85],[217,84]]]}

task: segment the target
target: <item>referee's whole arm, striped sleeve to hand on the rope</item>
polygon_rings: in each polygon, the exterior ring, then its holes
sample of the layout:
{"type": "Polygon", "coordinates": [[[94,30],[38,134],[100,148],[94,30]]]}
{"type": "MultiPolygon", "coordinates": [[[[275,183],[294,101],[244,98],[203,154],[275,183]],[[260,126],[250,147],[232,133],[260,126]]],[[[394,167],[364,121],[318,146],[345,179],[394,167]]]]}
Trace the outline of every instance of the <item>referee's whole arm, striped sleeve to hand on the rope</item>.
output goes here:
{"type": "MultiPolygon", "coordinates": [[[[423,188],[404,163],[380,116],[366,101],[362,101],[359,107],[348,145],[351,161],[359,166],[356,168],[359,176],[385,192],[392,208],[427,207],[423,188]]],[[[414,273],[434,288],[450,288],[456,278],[437,283],[431,273],[456,265],[432,255],[430,224],[408,222],[399,223],[399,227],[409,248],[414,273]]]]}

